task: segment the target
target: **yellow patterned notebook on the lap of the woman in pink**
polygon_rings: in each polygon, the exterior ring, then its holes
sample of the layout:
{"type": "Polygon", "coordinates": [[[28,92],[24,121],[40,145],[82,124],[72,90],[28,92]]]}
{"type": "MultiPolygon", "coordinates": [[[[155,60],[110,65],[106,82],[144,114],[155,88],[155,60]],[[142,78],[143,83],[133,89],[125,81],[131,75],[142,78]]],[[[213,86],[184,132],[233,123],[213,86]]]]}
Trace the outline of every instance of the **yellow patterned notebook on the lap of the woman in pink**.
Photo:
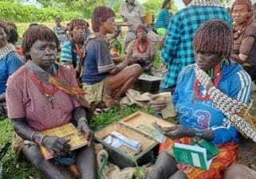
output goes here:
{"type": "MultiPolygon", "coordinates": [[[[53,129],[43,130],[41,133],[49,136],[70,139],[70,150],[77,150],[88,144],[88,140],[84,135],[78,132],[77,128],[73,126],[73,123],[67,123],[53,129]]],[[[45,146],[40,146],[40,150],[46,160],[53,158],[53,155],[45,148],[45,146]]]]}

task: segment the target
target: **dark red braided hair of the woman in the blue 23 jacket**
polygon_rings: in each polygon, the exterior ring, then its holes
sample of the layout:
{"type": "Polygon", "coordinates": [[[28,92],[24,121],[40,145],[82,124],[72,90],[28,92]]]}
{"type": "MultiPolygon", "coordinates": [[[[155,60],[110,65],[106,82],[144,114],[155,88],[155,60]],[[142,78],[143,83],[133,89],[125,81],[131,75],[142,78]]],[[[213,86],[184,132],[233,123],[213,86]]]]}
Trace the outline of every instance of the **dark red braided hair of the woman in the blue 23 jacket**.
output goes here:
{"type": "Polygon", "coordinates": [[[229,59],[232,52],[233,35],[225,21],[206,21],[195,33],[195,53],[218,53],[229,59]]]}

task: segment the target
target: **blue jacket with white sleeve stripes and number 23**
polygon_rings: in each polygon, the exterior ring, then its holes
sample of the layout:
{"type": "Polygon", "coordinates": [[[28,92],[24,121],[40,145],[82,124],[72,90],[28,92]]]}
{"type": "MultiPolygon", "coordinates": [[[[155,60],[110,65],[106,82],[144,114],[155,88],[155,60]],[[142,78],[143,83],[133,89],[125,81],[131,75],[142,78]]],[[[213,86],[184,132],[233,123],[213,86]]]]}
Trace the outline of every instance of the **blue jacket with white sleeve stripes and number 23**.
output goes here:
{"type": "MultiPolygon", "coordinates": [[[[214,77],[213,77],[214,78],[214,77]]],[[[195,83],[194,64],[188,65],[179,73],[178,83],[173,95],[173,103],[178,111],[179,123],[183,126],[215,130],[215,139],[211,142],[223,144],[238,142],[238,130],[230,124],[222,111],[215,107],[211,99],[195,99],[193,91],[195,83]]],[[[250,76],[242,66],[225,60],[218,88],[233,99],[243,103],[250,100],[250,76]]],[[[199,87],[203,91],[203,86],[199,87]]]]}

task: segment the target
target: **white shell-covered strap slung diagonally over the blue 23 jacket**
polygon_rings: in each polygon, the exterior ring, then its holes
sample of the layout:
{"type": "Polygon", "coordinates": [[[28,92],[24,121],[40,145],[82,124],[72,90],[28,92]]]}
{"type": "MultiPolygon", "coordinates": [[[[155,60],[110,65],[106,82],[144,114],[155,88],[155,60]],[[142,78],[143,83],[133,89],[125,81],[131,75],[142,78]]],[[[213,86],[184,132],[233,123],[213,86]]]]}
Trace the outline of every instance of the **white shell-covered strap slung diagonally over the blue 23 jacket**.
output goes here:
{"type": "Polygon", "coordinates": [[[245,118],[250,107],[247,107],[246,104],[241,101],[230,98],[213,86],[210,76],[201,70],[197,64],[195,64],[194,70],[197,80],[199,80],[206,89],[207,94],[210,95],[210,98],[215,103],[216,107],[226,115],[226,118],[229,119],[242,134],[245,134],[256,142],[256,131],[250,126],[250,123],[248,123],[245,118]]]}

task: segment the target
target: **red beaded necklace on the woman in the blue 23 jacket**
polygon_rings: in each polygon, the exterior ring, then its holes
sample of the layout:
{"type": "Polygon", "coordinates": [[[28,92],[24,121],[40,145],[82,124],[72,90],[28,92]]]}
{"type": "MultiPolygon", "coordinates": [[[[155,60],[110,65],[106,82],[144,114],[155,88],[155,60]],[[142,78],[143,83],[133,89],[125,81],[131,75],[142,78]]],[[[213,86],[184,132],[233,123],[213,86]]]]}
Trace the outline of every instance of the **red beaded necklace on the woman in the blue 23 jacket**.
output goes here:
{"type": "MultiPolygon", "coordinates": [[[[213,73],[211,76],[213,76],[214,78],[214,81],[213,81],[213,85],[215,87],[218,87],[219,85],[219,81],[221,79],[221,76],[222,76],[222,72],[221,72],[221,65],[222,63],[219,63],[215,66],[215,68],[213,69],[214,72],[212,72],[212,69],[210,70],[210,73],[213,73]]],[[[207,95],[207,91],[206,89],[204,89],[202,91],[202,95],[200,94],[200,89],[199,87],[201,86],[201,83],[199,82],[198,79],[195,80],[195,83],[194,83],[194,95],[195,95],[195,99],[199,99],[199,100],[210,100],[210,95],[207,95]]]]}

